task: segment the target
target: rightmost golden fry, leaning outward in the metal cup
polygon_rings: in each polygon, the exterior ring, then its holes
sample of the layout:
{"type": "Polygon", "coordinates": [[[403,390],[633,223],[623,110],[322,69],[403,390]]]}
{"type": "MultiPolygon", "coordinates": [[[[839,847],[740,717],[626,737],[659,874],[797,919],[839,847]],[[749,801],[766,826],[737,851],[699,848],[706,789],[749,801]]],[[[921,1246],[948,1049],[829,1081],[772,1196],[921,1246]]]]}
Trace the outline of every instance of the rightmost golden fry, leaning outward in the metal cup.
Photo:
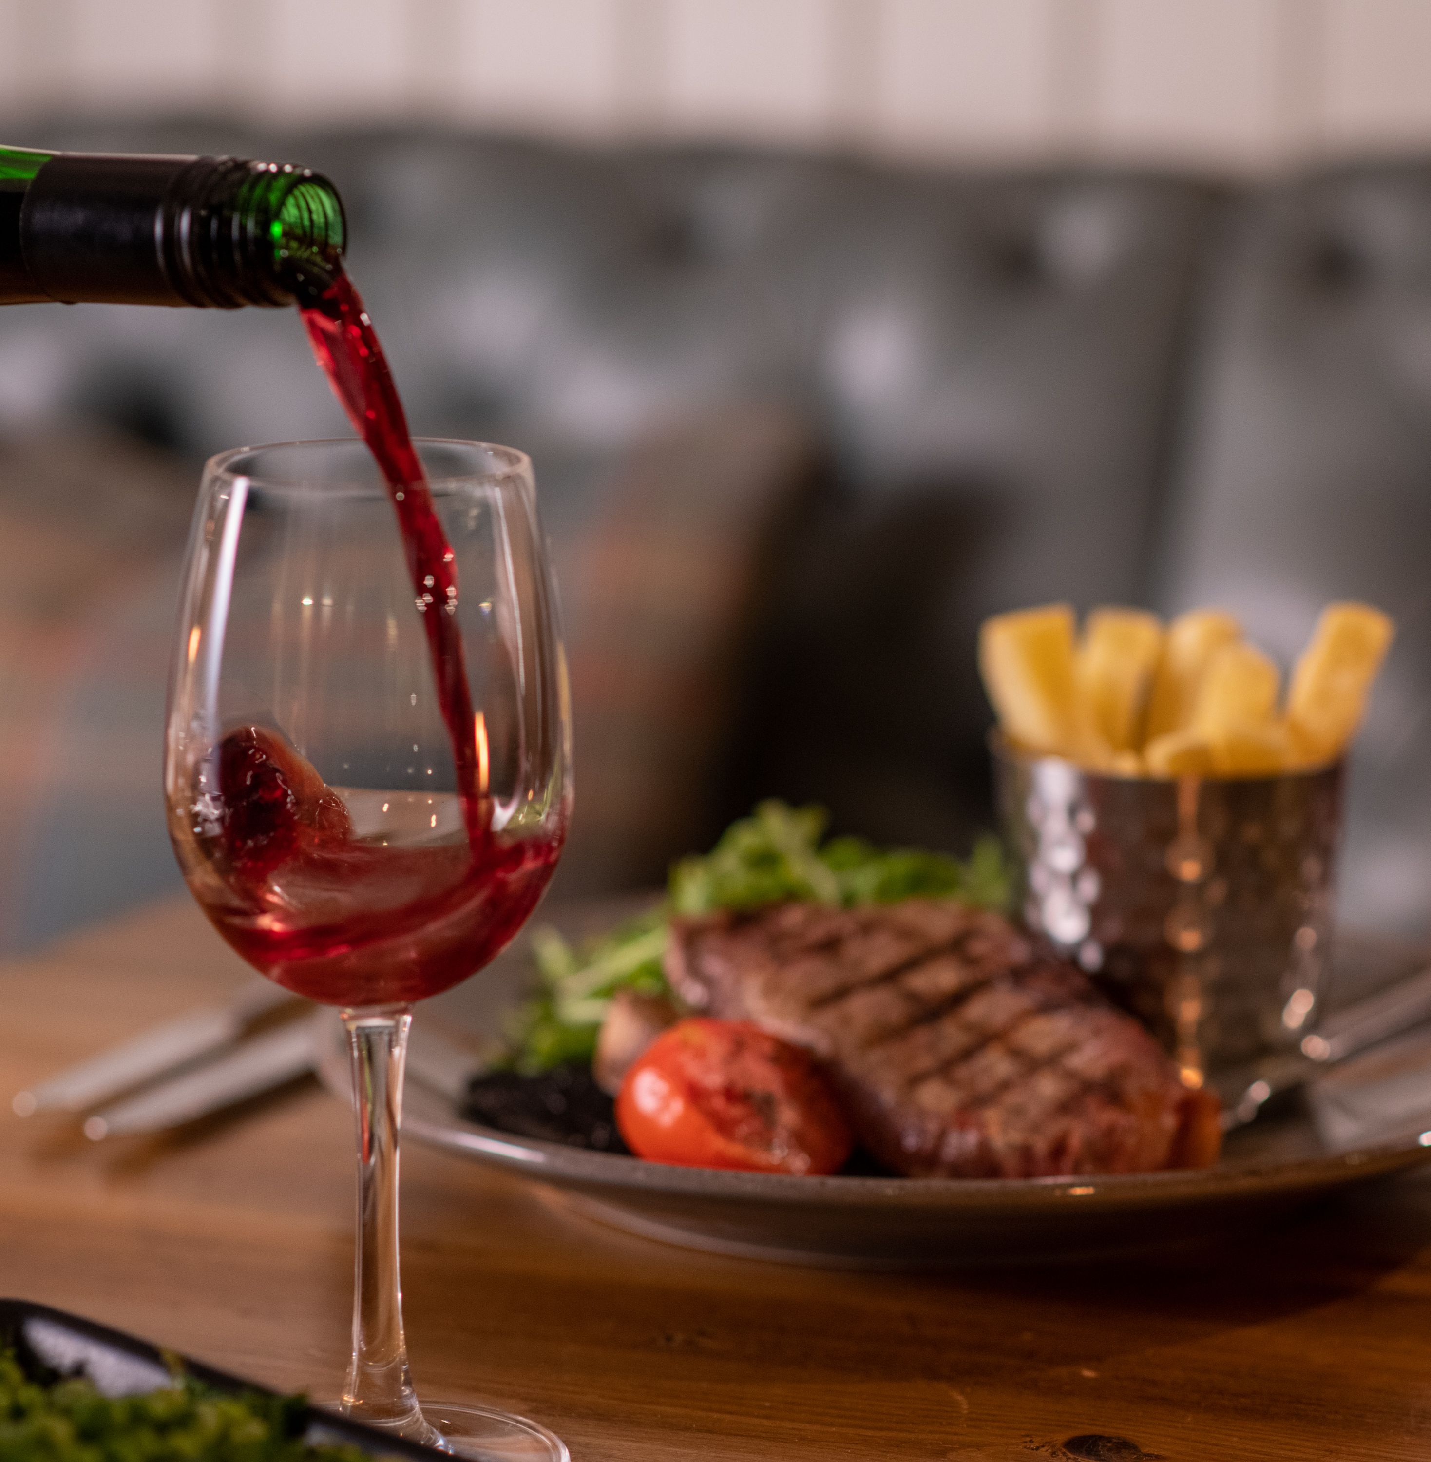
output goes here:
{"type": "Polygon", "coordinates": [[[1321,611],[1286,699],[1288,727],[1304,762],[1332,762],[1346,750],[1394,635],[1394,623],[1367,604],[1329,604],[1321,611]]]}

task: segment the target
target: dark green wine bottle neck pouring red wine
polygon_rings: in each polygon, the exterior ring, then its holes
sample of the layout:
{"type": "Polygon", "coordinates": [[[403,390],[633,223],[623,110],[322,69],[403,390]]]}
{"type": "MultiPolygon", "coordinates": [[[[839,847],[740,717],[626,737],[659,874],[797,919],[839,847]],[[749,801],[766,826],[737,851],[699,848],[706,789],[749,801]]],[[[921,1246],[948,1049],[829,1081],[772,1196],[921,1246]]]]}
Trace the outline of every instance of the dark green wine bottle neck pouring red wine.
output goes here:
{"type": "Polygon", "coordinates": [[[0,148],[0,304],[303,304],[343,244],[333,184],[288,162],[0,148]]]}

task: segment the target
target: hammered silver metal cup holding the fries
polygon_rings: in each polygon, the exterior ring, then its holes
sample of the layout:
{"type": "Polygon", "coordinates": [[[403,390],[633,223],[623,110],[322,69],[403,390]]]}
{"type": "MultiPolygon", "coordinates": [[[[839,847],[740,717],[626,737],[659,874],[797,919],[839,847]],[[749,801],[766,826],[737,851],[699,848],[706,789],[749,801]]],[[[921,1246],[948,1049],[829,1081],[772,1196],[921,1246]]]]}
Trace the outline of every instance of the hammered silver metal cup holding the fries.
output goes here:
{"type": "Polygon", "coordinates": [[[1295,1045],[1327,969],[1340,763],[1266,778],[1107,776],[997,734],[1016,898],[1149,1025],[1184,1079],[1295,1045]]]}

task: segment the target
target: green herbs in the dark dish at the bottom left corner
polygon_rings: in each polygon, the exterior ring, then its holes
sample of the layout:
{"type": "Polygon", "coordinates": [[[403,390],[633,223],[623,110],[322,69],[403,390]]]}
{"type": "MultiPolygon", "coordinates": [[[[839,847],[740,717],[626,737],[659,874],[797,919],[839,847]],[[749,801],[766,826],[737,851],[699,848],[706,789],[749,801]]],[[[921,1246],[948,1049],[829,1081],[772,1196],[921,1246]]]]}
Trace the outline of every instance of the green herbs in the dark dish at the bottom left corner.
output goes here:
{"type": "Polygon", "coordinates": [[[0,1351],[0,1462],[367,1462],[357,1447],[305,1443],[304,1406],[186,1379],[108,1398],[82,1377],[34,1380],[0,1351]]]}

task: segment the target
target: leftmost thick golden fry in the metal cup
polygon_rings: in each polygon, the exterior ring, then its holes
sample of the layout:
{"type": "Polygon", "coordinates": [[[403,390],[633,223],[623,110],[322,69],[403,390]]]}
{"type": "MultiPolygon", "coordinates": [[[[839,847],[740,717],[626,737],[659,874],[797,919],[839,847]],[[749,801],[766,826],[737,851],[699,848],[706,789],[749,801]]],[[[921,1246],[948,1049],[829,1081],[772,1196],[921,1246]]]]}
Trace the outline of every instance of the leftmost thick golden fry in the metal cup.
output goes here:
{"type": "Polygon", "coordinates": [[[1073,675],[1073,610],[1049,604],[979,627],[979,674],[1000,727],[1030,751],[1079,756],[1088,737],[1073,675]]]}

